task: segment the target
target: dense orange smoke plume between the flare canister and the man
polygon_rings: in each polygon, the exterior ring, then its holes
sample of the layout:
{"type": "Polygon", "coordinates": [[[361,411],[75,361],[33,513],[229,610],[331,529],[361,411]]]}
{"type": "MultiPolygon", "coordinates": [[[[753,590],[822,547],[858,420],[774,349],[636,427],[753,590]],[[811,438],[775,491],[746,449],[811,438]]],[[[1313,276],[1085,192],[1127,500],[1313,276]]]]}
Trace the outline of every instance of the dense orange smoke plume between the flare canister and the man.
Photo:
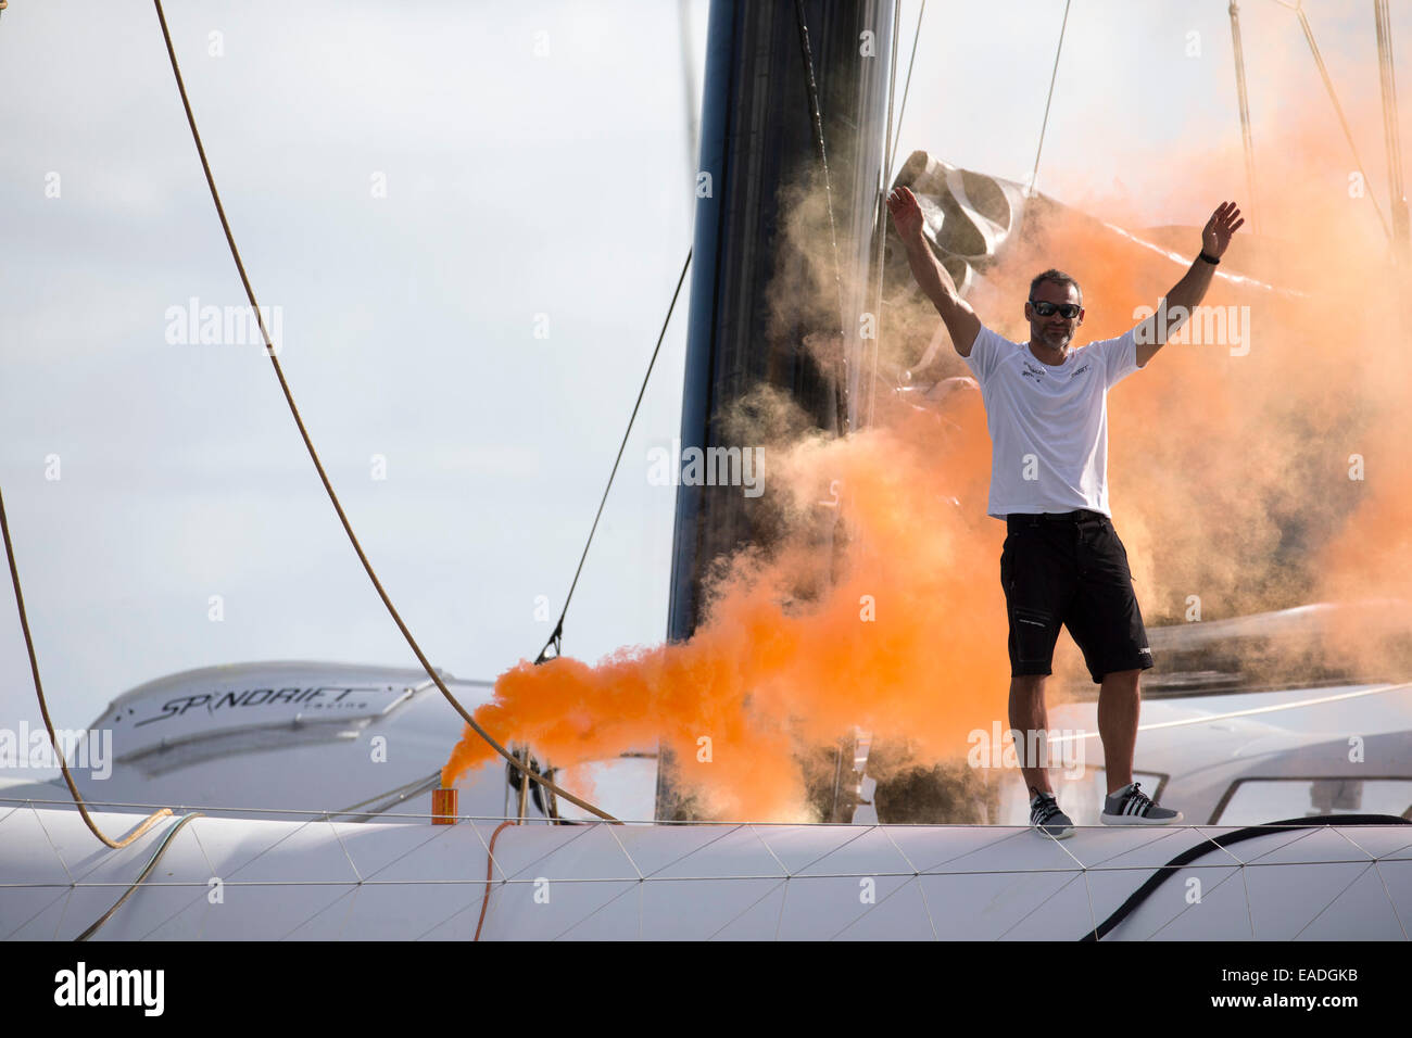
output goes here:
{"type": "MultiPolygon", "coordinates": [[[[1004,703],[1007,660],[1004,637],[994,640],[1005,623],[1001,535],[981,525],[988,439],[979,394],[963,395],[960,428],[912,411],[765,456],[765,486],[801,514],[829,500],[830,482],[849,489],[846,568],[820,599],[796,595],[818,549],[786,537],[768,559],[734,559],[689,641],[621,650],[597,667],[521,662],[476,720],[570,765],[661,739],[712,813],[751,819],[796,816],[792,751],[853,724],[911,734],[931,757],[964,747],[1004,703]]],[[[443,784],[489,757],[467,730],[443,784]]]]}

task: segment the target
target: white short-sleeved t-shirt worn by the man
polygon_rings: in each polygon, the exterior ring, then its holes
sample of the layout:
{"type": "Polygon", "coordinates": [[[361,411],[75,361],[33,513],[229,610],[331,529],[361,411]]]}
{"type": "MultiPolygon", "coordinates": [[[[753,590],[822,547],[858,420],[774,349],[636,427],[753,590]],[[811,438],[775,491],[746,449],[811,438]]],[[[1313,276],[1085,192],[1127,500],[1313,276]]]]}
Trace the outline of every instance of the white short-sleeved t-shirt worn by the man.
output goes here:
{"type": "Polygon", "coordinates": [[[988,515],[1108,510],[1108,390],[1138,370],[1134,332],[1045,364],[981,328],[966,363],[990,426],[988,515]]]}

